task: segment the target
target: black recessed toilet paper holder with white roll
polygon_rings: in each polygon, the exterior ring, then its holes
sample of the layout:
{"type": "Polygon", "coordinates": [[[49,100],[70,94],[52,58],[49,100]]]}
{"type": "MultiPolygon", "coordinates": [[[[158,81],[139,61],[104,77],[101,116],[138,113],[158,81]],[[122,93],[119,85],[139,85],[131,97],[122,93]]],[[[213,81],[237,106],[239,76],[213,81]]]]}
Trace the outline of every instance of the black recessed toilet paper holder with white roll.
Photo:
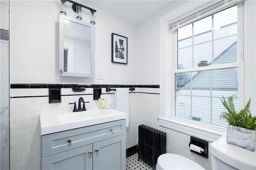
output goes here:
{"type": "Polygon", "coordinates": [[[190,137],[189,147],[191,152],[208,158],[208,141],[204,141],[196,137],[190,137]]]}

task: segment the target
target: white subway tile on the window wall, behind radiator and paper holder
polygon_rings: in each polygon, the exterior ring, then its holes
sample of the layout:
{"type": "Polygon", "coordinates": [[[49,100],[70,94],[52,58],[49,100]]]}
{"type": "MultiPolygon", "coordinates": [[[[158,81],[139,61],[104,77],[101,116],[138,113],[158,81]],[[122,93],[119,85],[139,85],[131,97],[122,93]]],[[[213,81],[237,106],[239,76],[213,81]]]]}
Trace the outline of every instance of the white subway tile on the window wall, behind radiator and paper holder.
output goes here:
{"type": "MultiPolygon", "coordinates": [[[[159,93],[159,88],[155,92],[152,92],[154,88],[137,88],[137,92],[148,92],[148,93],[159,93]]],[[[190,152],[189,142],[190,136],[179,133],[172,129],[167,129],[160,127],[157,117],[160,114],[160,102],[159,94],[145,94],[137,93],[137,122],[138,125],[144,124],[150,127],[156,128],[160,131],[164,131],[167,134],[167,153],[179,154],[193,160],[194,162],[200,164],[206,170],[212,170],[212,160],[211,154],[209,153],[209,158],[204,158],[190,152]]],[[[210,143],[209,143],[210,145],[210,143]]]]}

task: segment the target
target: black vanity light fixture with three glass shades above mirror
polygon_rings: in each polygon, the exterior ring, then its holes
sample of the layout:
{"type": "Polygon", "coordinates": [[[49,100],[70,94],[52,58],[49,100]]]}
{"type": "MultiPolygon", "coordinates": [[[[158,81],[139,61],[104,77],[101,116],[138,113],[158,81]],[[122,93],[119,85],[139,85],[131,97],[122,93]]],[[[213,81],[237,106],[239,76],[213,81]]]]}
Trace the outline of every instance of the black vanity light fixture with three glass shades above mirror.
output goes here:
{"type": "Polygon", "coordinates": [[[72,3],[72,10],[76,13],[76,19],[78,20],[82,20],[82,7],[86,8],[87,10],[90,10],[91,12],[91,24],[95,24],[95,16],[94,13],[96,12],[96,10],[89,8],[87,6],[78,4],[77,2],[74,2],[72,0],[60,0],[61,4],[60,4],[60,14],[66,15],[66,2],[70,2],[72,3]]]}

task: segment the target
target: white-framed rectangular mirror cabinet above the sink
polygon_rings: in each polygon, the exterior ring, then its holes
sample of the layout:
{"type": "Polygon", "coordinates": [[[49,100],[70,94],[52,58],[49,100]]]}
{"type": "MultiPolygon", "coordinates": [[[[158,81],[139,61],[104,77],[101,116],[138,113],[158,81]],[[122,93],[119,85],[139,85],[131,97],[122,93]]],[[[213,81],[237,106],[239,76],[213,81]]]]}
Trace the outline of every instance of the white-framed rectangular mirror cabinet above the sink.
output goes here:
{"type": "Polygon", "coordinates": [[[60,76],[94,76],[94,25],[60,14],[60,76]]]}

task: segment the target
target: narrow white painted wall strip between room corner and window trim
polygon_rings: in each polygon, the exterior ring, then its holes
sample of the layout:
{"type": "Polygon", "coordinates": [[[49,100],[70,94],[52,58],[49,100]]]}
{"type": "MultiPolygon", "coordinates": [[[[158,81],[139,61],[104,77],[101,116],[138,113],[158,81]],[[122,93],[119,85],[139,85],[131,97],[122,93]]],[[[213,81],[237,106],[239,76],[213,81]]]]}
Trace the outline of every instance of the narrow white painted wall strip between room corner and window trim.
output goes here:
{"type": "Polygon", "coordinates": [[[159,17],[187,1],[174,1],[156,14],[152,14],[137,29],[137,83],[159,84],[159,17]]]}

